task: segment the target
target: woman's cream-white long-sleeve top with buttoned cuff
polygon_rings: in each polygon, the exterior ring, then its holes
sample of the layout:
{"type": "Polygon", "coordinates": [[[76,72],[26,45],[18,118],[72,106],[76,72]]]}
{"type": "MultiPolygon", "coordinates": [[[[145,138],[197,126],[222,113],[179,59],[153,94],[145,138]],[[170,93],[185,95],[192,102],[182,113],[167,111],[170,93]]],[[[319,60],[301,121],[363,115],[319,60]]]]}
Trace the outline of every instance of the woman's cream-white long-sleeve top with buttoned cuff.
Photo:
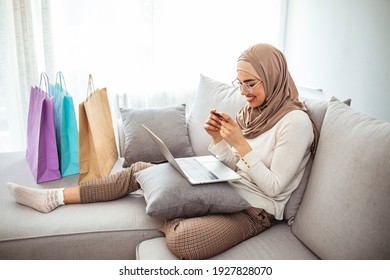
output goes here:
{"type": "Polygon", "coordinates": [[[282,220],[287,201],[303,177],[313,140],[309,116],[295,110],[272,129],[247,139],[252,151],[244,157],[224,140],[211,144],[209,151],[242,176],[231,184],[252,207],[282,220]]]}

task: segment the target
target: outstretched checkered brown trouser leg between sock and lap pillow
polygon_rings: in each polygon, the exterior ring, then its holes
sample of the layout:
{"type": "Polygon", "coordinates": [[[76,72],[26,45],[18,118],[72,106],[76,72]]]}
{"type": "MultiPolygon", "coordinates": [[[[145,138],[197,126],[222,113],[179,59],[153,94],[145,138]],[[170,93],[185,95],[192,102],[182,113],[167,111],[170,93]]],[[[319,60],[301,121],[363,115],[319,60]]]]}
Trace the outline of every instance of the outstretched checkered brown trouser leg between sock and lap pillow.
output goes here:
{"type": "Polygon", "coordinates": [[[81,203],[111,201],[127,196],[140,188],[133,174],[149,166],[152,164],[137,162],[118,173],[81,183],[81,203]]]}

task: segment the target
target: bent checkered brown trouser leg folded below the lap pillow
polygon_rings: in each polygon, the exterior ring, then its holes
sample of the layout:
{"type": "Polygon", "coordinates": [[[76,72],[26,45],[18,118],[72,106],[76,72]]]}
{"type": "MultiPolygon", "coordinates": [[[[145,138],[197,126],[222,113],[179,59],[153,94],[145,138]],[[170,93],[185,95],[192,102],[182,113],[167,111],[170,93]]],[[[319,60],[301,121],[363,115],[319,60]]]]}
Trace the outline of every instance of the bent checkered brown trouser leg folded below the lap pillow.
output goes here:
{"type": "Polygon", "coordinates": [[[249,208],[232,213],[167,221],[169,250],[180,259],[207,259],[271,227],[273,215],[249,208]]]}

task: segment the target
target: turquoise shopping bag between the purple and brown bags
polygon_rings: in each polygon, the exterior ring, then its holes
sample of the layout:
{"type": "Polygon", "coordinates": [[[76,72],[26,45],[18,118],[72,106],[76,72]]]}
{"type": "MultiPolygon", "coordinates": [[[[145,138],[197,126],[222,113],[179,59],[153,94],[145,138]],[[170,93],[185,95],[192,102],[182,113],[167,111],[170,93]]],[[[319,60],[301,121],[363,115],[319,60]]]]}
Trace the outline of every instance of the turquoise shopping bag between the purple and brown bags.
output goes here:
{"type": "Polygon", "coordinates": [[[49,84],[49,93],[54,97],[54,120],[61,175],[64,177],[79,174],[79,132],[76,113],[73,98],[66,89],[62,72],[57,72],[55,84],[49,84]]]}

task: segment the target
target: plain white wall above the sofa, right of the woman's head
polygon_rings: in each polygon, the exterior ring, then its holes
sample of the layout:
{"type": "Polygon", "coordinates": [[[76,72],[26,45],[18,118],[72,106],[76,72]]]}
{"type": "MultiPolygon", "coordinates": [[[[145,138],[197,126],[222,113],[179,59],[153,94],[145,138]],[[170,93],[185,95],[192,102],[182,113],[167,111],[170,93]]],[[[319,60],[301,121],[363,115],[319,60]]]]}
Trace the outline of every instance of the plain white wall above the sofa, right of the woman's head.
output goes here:
{"type": "Polygon", "coordinates": [[[284,52],[295,82],[390,121],[390,1],[287,1],[284,52]]]}

